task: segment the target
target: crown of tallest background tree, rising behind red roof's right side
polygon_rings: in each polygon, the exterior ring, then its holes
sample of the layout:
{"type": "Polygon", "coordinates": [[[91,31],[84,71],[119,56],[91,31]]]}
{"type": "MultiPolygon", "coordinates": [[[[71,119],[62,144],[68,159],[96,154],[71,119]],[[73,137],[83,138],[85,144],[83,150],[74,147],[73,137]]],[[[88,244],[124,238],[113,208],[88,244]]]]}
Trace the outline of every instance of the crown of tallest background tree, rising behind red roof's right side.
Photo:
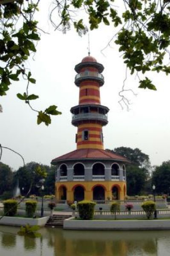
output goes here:
{"type": "Polygon", "coordinates": [[[139,148],[127,148],[127,147],[119,147],[114,150],[109,150],[112,153],[119,154],[122,157],[126,157],[133,165],[137,166],[150,166],[149,156],[141,152],[139,148]]]}

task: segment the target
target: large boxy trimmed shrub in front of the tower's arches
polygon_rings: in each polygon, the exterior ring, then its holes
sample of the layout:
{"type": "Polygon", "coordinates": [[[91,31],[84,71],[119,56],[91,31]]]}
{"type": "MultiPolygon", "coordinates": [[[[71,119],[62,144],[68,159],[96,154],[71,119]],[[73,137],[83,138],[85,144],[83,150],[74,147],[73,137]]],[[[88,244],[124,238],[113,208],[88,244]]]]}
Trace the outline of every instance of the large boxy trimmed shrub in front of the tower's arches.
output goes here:
{"type": "Polygon", "coordinates": [[[82,220],[91,220],[95,212],[95,203],[83,200],[78,202],[78,213],[82,220]]]}

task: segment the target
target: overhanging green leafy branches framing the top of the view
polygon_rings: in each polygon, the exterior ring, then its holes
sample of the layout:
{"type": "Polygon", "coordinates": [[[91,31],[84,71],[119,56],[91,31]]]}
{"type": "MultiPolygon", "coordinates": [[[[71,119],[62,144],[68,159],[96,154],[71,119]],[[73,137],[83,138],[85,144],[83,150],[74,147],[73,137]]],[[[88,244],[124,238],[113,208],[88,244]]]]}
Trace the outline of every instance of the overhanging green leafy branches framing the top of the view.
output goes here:
{"type": "MultiPolygon", "coordinates": [[[[51,123],[51,115],[61,112],[52,105],[45,111],[32,108],[30,101],[38,98],[29,94],[29,84],[35,84],[31,72],[24,66],[32,52],[36,52],[35,42],[40,40],[38,22],[34,20],[38,11],[40,0],[3,0],[0,5],[0,21],[2,26],[0,39],[0,96],[6,95],[12,80],[18,81],[20,76],[27,81],[26,91],[18,93],[17,97],[37,112],[37,124],[51,123]],[[8,2],[8,3],[7,3],[8,2]],[[20,19],[20,23],[14,22],[20,19]],[[21,25],[18,25],[21,24],[21,25]]],[[[170,73],[170,66],[166,60],[170,52],[170,1],[169,0],[122,0],[112,5],[114,0],[72,0],[53,1],[50,20],[55,29],[63,32],[73,25],[79,35],[87,32],[82,17],[77,16],[78,11],[84,9],[84,15],[89,19],[90,29],[98,29],[100,23],[109,26],[111,23],[118,27],[115,29],[115,44],[119,45],[124,63],[131,74],[135,73],[139,79],[139,88],[156,90],[148,76],[149,71],[170,73]],[[117,12],[118,7],[121,12],[117,12]],[[59,21],[55,22],[55,19],[59,21]]],[[[82,12],[80,12],[82,15],[82,12]]],[[[42,31],[42,29],[41,29],[42,31]]],[[[108,43],[109,45],[109,43],[108,43]]],[[[124,90],[124,89],[123,89],[124,90]]],[[[122,96],[124,104],[128,104],[122,96]]]]}

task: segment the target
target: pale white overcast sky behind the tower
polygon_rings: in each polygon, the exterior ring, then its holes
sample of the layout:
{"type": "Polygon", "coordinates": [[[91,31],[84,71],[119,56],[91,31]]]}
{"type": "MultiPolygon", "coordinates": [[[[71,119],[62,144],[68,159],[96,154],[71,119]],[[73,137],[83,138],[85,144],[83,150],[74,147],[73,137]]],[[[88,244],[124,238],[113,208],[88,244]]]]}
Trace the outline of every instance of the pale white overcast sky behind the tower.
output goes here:
{"type": "MultiPolygon", "coordinates": [[[[76,149],[75,133],[77,128],[71,125],[70,108],[78,104],[78,87],[74,84],[76,64],[88,54],[88,36],[79,37],[74,29],[66,35],[54,31],[48,22],[50,0],[41,1],[39,27],[50,32],[41,35],[37,53],[27,61],[36,85],[29,87],[29,93],[40,96],[32,101],[37,110],[44,110],[49,105],[57,105],[61,116],[52,117],[52,124],[36,124],[36,113],[24,102],[17,99],[17,93],[23,93],[26,83],[21,79],[14,82],[7,96],[0,99],[3,113],[0,113],[0,143],[23,155],[26,163],[35,161],[50,165],[53,158],[76,149]]],[[[109,123],[103,128],[104,148],[119,146],[140,148],[150,156],[152,165],[160,165],[170,159],[170,78],[162,73],[153,73],[149,78],[157,86],[157,91],[138,89],[138,79],[130,76],[126,88],[133,89],[138,95],[128,93],[132,103],[130,111],[121,109],[118,104],[118,92],[125,78],[126,67],[112,44],[101,53],[112,35],[113,26],[100,26],[90,32],[90,51],[97,61],[104,65],[105,84],[101,87],[101,104],[106,105],[109,123]]],[[[13,169],[22,166],[19,156],[4,149],[2,160],[13,169]]]]}

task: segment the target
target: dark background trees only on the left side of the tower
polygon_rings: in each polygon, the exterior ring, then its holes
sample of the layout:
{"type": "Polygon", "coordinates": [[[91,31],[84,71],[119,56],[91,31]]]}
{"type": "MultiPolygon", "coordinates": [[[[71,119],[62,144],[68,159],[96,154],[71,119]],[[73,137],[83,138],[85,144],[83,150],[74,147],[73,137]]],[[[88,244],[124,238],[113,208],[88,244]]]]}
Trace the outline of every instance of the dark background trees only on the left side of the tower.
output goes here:
{"type": "Polygon", "coordinates": [[[0,196],[1,198],[11,198],[14,196],[17,183],[20,188],[21,195],[26,195],[30,189],[29,195],[41,195],[40,180],[44,178],[43,194],[55,194],[55,167],[47,166],[35,162],[27,163],[20,167],[17,171],[0,162],[0,196]]]}

